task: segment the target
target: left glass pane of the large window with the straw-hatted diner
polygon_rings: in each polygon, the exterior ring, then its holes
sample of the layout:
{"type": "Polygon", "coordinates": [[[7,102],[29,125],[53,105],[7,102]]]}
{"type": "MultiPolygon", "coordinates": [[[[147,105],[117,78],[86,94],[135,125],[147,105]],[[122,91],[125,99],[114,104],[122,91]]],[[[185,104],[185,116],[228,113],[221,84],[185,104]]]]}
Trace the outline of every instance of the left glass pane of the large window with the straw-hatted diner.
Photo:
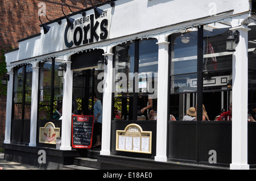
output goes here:
{"type": "MultiPolygon", "coordinates": [[[[197,30],[177,32],[170,41],[170,115],[183,120],[189,107],[196,105],[197,30]]],[[[174,120],[174,119],[173,119],[174,120]]]]}

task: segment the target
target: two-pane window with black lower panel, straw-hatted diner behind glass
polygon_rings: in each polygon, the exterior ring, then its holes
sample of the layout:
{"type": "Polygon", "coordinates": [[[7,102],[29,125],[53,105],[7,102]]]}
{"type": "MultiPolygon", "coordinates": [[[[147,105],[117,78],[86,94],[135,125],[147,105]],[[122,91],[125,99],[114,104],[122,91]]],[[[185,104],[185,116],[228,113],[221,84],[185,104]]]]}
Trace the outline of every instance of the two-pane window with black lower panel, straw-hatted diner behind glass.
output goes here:
{"type": "Polygon", "coordinates": [[[214,23],[169,37],[169,112],[175,117],[168,122],[170,161],[208,163],[209,151],[215,150],[221,164],[231,162],[232,121],[214,121],[232,102],[232,85],[228,86],[232,52],[226,52],[229,28],[214,23]]]}

